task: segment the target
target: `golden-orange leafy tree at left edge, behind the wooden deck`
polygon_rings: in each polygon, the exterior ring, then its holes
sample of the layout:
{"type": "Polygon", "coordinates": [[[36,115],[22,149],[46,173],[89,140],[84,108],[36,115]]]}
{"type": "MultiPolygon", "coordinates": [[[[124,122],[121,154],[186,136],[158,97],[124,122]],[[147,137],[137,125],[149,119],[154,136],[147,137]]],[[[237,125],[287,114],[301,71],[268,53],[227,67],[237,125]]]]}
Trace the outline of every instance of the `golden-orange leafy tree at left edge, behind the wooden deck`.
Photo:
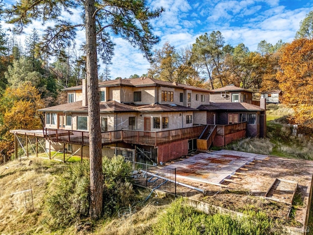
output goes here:
{"type": "Polygon", "coordinates": [[[8,87],[0,98],[0,149],[14,148],[10,130],[41,129],[42,117],[37,110],[44,107],[38,90],[30,83],[8,87]]]}

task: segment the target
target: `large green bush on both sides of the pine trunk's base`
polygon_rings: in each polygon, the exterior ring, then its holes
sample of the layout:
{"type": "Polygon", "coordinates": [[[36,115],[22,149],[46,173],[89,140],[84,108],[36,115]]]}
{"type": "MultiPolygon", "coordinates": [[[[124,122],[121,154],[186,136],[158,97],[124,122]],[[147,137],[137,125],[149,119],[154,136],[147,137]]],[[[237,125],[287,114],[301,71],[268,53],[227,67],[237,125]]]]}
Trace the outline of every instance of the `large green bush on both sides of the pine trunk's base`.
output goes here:
{"type": "MultiPolygon", "coordinates": [[[[103,214],[109,216],[128,206],[135,197],[130,182],[131,166],[122,156],[112,160],[103,158],[103,214]]],[[[70,164],[63,172],[54,191],[47,198],[46,219],[51,229],[65,228],[89,216],[90,203],[89,162],[70,164]]]]}

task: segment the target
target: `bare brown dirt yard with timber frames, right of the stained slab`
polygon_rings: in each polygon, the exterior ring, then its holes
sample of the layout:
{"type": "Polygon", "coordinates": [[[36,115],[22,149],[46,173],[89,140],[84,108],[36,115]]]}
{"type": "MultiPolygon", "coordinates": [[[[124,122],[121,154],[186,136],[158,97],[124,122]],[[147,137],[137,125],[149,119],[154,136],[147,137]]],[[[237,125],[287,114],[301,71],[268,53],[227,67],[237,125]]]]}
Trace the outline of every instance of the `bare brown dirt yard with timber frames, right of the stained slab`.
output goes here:
{"type": "MultiPolygon", "coordinates": [[[[222,151],[227,152],[216,151],[216,153],[223,155],[223,159],[227,155],[231,159],[238,154],[248,154],[229,150],[222,151]]],[[[208,154],[212,154],[212,152],[208,154]]],[[[197,156],[197,154],[193,155],[197,156]]],[[[185,158],[192,157],[186,156],[185,158]]],[[[217,174],[219,167],[215,167],[214,170],[211,165],[210,170],[217,174]]],[[[221,174],[225,174],[225,172],[222,171],[221,174]]],[[[208,173],[205,172],[204,175],[208,175],[208,173]]],[[[235,169],[230,175],[232,176],[224,178],[226,181],[220,182],[220,186],[204,183],[203,180],[195,181],[193,177],[178,177],[177,181],[205,189],[206,192],[202,194],[200,191],[182,186],[178,186],[177,192],[182,196],[233,211],[265,211],[269,216],[294,227],[304,225],[312,188],[313,161],[257,156],[254,160],[247,161],[246,165],[235,169]]]]}

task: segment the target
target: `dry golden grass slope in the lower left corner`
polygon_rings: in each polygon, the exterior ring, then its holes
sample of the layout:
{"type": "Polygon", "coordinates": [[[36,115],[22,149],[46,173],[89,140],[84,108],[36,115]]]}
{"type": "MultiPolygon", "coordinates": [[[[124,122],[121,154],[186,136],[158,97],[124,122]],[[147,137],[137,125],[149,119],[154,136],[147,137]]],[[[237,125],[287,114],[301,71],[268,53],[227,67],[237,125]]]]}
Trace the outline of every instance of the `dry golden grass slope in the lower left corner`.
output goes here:
{"type": "MultiPolygon", "coordinates": [[[[42,161],[25,159],[0,166],[1,234],[35,234],[44,229],[41,218],[46,190],[54,180],[53,173],[62,166],[43,167],[42,161]],[[21,192],[30,187],[32,191],[21,192]]],[[[48,166],[51,164],[54,161],[50,161],[48,166]]]]}

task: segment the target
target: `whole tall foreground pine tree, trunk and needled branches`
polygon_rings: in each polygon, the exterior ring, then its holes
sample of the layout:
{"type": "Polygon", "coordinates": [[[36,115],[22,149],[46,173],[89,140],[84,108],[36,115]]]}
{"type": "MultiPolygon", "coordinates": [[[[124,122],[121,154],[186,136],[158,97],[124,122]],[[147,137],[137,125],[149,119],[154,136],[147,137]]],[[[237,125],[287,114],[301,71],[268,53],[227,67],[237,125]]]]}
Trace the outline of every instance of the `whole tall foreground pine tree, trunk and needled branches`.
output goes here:
{"type": "Polygon", "coordinates": [[[150,10],[145,0],[46,0],[18,1],[6,11],[8,22],[15,24],[18,31],[32,19],[41,19],[44,23],[54,20],[54,27],[47,27],[43,46],[50,51],[65,48],[76,36],[76,28],[86,30],[86,78],[88,88],[89,113],[89,154],[90,154],[90,216],[99,217],[102,211],[102,143],[98,95],[97,51],[100,57],[110,62],[113,43],[109,31],[120,35],[133,46],[139,47],[149,59],[151,49],[158,42],[152,33],[149,21],[158,17],[162,8],[150,10]],[[82,24],[64,21],[62,11],[72,14],[71,9],[82,10],[82,24]],[[58,47],[56,46],[58,45],[58,47]]]}

